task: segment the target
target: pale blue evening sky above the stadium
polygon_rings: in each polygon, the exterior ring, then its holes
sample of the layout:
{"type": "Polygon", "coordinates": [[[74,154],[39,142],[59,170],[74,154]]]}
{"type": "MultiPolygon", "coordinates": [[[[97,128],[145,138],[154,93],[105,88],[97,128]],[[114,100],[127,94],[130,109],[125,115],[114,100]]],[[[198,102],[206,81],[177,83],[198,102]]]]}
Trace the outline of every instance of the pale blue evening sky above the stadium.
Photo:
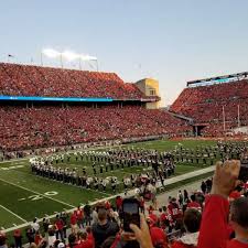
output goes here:
{"type": "Polygon", "coordinates": [[[163,106],[187,80],[248,71],[247,0],[1,0],[0,23],[0,61],[41,64],[47,47],[89,54],[125,82],[158,79],[163,106]]]}

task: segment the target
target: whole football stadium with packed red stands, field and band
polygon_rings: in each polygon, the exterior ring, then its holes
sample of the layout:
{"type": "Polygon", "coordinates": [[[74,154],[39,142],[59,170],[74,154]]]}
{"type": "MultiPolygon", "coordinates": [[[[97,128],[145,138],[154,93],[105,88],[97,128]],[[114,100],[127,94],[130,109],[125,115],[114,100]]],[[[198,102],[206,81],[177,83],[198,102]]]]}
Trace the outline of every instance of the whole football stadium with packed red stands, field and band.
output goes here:
{"type": "Polygon", "coordinates": [[[248,72],[165,107],[158,79],[83,61],[0,62],[0,248],[247,247],[248,72]]]}

